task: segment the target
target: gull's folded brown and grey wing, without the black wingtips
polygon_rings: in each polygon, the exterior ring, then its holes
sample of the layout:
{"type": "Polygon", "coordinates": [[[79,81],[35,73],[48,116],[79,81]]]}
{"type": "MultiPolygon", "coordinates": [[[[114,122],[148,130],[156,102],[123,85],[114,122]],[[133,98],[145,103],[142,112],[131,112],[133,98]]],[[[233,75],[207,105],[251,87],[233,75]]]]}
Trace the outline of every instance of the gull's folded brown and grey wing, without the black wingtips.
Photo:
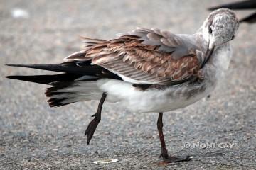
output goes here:
{"type": "Polygon", "coordinates": [[[201,65],[196,47],[168,31],[137,28],[109,41],[84,39],[85,50],[65,60],[92,60],[131,83],[178,84],[201,65]]]}

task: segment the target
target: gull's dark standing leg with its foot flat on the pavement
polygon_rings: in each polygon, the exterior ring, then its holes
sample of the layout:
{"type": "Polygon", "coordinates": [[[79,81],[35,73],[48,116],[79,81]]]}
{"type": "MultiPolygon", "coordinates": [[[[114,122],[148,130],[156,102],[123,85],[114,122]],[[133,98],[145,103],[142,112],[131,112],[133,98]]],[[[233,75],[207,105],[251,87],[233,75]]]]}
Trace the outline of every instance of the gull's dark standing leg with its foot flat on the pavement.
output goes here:
{"type": "Polygon", "coordinates": [[[161,155],[160,157],[163,157],[164,162],[186,162],[190,161],[189,156],[187,157],[170,157],[168,155],[168,151],[166,149],[166,145],[164,142],[164,133],[163,133],[163,113],[159,113],[159,118],[157,120],[157,129],[159,131],[159,139],[161,142],[161,155]]]}

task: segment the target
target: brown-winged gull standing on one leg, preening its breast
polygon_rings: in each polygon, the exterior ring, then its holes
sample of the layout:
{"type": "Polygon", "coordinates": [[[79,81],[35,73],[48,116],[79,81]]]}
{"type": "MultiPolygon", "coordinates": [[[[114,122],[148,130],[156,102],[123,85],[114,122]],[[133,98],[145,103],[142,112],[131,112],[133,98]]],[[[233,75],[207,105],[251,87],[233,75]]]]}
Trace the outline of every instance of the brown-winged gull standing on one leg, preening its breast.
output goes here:
{"type": "Polygon", "coordinates": [[[228,69],[230,40],[238,26],[235,13],[221,8],[192,35],[136,28],[111,40],[82,37],[82,50],[60,64],[7,64],[60,73],[7,78],[48,84],[50,107],[99,100],[85,130],[87,144],[100,123],[105,101],[134,113],[158,113],[160,157],[164,162],[186,162],[189,155],[174,156],[166,149],[163,113],[189,106],[215,89],[228,69]]]}

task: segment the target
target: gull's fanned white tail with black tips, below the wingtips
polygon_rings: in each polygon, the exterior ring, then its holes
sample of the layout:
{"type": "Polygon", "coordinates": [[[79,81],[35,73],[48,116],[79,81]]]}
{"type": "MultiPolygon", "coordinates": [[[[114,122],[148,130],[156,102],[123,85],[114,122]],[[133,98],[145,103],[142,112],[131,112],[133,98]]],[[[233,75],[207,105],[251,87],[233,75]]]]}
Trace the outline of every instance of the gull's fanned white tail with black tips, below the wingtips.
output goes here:
{"type": "Polygon", "coordinates": [[[78,101],[90,101],[100,98],[102,92],[97,87],[97,81],[55,81],[46,89],[50,99],[50,107],[65,106],[78,101]]]}

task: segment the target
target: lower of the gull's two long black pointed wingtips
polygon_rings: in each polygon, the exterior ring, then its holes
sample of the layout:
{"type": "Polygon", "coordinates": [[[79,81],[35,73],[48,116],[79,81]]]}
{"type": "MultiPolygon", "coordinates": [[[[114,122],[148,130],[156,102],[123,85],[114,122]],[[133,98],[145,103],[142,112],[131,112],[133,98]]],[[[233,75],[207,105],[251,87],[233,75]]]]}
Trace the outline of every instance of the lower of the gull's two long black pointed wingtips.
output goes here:
{"type": "MultiPolygon", "coordinates": [[[[22,81],[30,81],[38,84],[50,84],[53,81],[73,81],[75,79],[80,79],[82,75],[80,74],[53,74],[53,75],[34,75],[34,76],[7,76],[9,79],[18,79],[22,81]]],[[[95,77],[96,79],[96,77],[95,77]]]]}

